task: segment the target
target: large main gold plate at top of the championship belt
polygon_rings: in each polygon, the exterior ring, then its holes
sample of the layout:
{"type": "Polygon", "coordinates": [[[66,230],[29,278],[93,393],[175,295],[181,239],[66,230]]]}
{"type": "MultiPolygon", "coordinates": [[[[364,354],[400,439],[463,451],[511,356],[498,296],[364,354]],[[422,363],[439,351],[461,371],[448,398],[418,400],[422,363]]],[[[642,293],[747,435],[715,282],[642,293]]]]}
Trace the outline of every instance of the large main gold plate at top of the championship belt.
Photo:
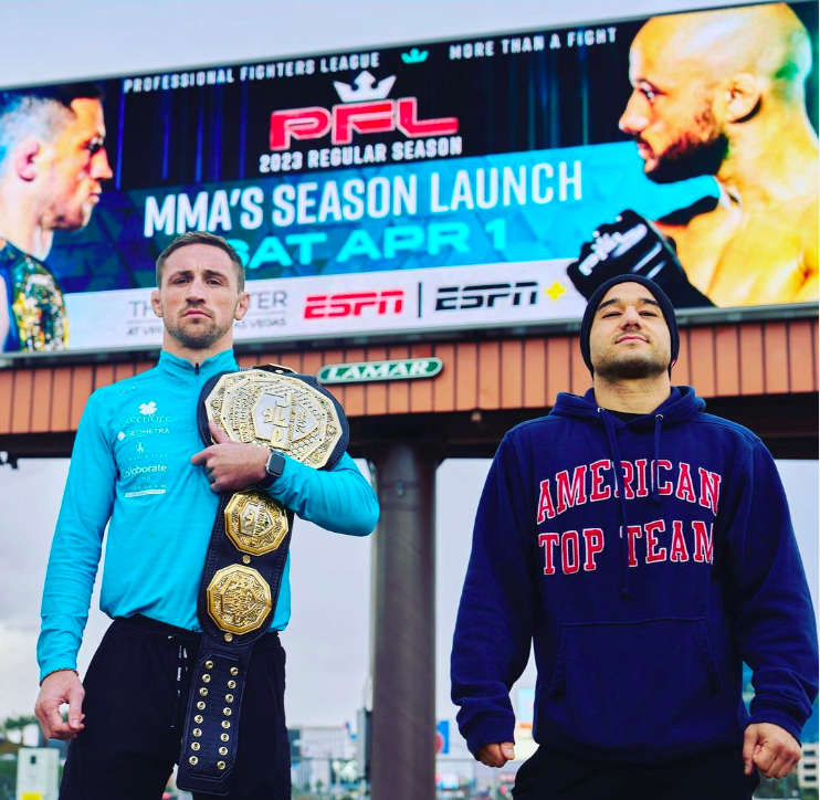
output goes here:
{"type": "Polygon", "coordinates": [[[324,466],[341,439],[333,401],[298,378],[262,369],[223,376],[206,400],[208,420],[234,442],[324,466]]]}

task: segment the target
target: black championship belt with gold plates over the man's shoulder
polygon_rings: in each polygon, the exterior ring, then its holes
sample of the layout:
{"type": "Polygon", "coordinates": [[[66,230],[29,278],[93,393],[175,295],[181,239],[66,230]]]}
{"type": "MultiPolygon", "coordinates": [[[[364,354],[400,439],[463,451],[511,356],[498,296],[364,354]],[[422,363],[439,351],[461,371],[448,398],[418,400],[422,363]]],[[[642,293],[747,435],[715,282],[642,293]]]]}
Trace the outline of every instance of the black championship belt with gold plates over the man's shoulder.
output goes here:
{"type": "MultiPolygon", "coordinates": [[[[211,378],[199,400],[199,432],[213,422],[234,442],[332,469],[347,450],[347,420],[311,376],[255,367],[211,378]]],[[[227,794],[236,760],[239,713],[253,643],[271,628],[293,529],[293,512],[264,488],[220,495],[197,614],[202,644],[191,681],[177,786],[227,794]]]]}

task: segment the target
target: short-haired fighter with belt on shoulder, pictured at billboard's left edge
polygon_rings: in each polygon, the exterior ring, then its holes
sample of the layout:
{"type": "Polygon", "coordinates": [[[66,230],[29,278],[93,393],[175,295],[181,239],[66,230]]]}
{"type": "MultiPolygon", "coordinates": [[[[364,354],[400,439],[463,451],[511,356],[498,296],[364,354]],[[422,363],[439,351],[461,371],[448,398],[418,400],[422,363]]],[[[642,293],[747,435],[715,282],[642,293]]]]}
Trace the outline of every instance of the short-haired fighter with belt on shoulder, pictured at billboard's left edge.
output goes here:
{"type": "Polygon", "coordinates": [[[0,92],[0,350],[63,350],[69,318],[45,260],[91,221],[113,177],[99,87],[0,92]]]}

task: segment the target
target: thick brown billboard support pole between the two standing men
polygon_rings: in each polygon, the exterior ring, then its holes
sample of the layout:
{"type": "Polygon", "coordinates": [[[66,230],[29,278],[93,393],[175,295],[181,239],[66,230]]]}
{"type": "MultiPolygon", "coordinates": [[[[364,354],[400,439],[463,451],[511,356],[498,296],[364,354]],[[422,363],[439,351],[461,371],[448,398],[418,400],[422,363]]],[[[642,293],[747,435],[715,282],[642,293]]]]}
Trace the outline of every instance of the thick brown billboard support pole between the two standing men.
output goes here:
{"type": "Polygon", "coordinates": [[[435,797],[435,467],[429,442],[372,453],[372,800],[435,797]]]}

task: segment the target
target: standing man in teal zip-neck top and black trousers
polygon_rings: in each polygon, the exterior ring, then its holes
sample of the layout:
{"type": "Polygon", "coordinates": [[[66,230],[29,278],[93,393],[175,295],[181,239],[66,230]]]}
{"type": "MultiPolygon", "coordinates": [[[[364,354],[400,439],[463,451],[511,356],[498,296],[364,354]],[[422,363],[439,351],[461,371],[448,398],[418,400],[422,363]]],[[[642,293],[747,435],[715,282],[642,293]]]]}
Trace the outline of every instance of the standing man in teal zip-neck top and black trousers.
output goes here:
{"type": "MultiPolygon", "coordinates": [[[[217,430],[217,443],[202,450],[200,391],[210,377],[239,369],[233,323],[250,299],[233,249],[219,236],[186,233],[157,260],[157,286],[151,304],[165,325],[159,364],[88,400],[45,577],[35,713],[49,738],[74,740],[63,799],[161,796],[179,754],[219,493],[262,484],[303,519],[351,536],[368,535],[378,519],[376,495],[347,454],[329,471],[285,456],[272,481],[263,448],[217,430]],[[106,525],[101,608],[115,622],[83,683],[76,654],[106,525]],[[59,713],[64,703],[67,722],[59,713]]],[[[290,556],[272,633],[255,648],[245,685],[240,731],[251,730],[240,737],[231,798],[290,798],[276,633],[291,613],[288,567],[290,556]]]]}

